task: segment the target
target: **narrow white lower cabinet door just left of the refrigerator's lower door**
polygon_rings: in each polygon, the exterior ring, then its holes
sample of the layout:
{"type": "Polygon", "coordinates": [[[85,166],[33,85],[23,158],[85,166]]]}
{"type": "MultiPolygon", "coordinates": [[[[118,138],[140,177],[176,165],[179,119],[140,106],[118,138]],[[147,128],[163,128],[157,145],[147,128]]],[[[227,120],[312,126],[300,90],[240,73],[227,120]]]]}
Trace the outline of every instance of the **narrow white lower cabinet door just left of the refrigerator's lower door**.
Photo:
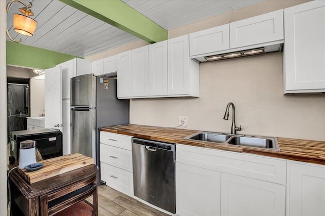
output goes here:
{"type": "Polygon", "coordinates": [[[70,145],[70,100],[62,100],[62,142],[63,155],[71,154],[70,145]]]}

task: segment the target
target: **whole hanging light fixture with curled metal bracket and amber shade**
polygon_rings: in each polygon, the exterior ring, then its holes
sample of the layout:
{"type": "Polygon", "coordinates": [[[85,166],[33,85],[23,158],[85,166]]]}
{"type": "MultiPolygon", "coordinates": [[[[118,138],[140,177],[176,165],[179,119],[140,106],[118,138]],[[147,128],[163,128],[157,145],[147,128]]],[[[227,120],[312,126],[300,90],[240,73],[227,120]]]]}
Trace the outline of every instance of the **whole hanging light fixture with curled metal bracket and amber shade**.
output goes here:
{"type": "MultiPolygon", "coordinates": [[[[33,0],[34,1],[34,0],[33,0]]],[[[22,14],[14,14],[13,15],[13,25],[14,30],[18,32],[19,34],[23,34],[26,36],[32,36],[34,34],[34,31],[36,29],[37,22],[34,19],[31,19],[28,16],[34,16],[34,13],[31,12],[30,8],[32,7],[32,2],[29,2],[29,5],[25,4],[24,2],[20,0],[11,0],[7,5],[6,13],[8,14],[9,8],[12,3],[19,2],[22,5],[24,5],[23,8],[19,8],[19,11],[22,14]]],[[[11,37],[9,34],[8,28],[6,27],[6,32],[8,37],[14,41],[14,42],[20,42],[21,38],[19,40],[15,40],[11,37]]]]}

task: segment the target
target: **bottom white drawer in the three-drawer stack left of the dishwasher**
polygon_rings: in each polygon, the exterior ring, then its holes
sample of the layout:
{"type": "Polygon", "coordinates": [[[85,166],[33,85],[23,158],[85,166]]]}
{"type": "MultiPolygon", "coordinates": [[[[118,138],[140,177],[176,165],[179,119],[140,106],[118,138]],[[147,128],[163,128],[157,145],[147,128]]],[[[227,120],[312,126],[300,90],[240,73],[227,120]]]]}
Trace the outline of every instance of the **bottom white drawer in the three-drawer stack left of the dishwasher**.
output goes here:
{"type": "Polygon", "coordinates": [[[106,185],[127,195],[134,195],[132,172],[101,162],[101,178],[106,185]]]}

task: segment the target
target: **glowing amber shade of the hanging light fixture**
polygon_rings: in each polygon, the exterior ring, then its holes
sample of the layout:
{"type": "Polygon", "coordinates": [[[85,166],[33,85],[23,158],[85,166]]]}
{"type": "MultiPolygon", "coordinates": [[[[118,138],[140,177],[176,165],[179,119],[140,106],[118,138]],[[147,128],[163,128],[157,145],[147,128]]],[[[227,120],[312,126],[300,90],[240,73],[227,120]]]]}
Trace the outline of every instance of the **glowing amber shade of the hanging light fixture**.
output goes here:
{"type": "Polygon", "coordinates": [[[14,14],[14,30],[20,34],[32,36],[37,22],[22,14],[14,14]]]}

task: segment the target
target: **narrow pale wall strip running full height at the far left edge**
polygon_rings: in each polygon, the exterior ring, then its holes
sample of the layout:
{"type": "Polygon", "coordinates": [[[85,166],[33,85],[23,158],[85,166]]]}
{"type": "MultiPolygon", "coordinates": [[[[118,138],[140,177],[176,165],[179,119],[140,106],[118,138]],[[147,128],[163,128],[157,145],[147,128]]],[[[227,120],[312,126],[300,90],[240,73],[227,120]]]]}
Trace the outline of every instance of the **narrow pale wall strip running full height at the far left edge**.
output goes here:
{"type": "Polygon", "coordinates": [[[0,215],[7,215],[6,1],[0,1],[0,215]]]}

